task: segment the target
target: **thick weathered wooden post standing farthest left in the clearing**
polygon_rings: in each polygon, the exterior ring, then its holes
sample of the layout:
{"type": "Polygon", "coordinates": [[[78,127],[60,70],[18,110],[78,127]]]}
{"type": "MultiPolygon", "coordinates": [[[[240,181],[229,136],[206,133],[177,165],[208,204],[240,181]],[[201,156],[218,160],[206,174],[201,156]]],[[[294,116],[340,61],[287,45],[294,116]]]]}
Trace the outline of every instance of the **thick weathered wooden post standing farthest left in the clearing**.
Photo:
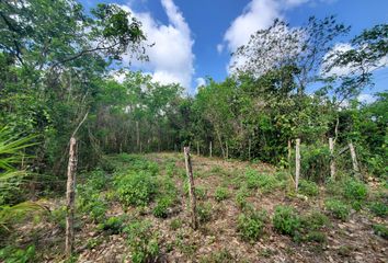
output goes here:
{"type": "Polygon", "coordinates": [[[77,170],[77,140],[70,138],[69,164],[67,168],[67,191],[66,191],[66,255],[71,256],[75,241],[75,198],[76,198],[76,170],[77,170]]]}

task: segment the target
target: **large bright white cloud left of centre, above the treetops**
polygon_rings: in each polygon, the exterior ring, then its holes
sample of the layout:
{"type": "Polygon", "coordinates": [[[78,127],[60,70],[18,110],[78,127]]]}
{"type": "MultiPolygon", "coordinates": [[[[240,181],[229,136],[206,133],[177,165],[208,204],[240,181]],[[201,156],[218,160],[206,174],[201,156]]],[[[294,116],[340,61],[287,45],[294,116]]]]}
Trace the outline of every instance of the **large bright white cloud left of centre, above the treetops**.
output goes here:
{"type": "MultiPolygon", "coordinates": [[[[136,13],[127,5],[122,5],[142,23],[149,43],[146,49],[148,62],[134,61],[133,65],[152,72],[153,80],[168,84],[178,82],[190,89],[194,75],[194,41],[182,12],[172,0],[161,0],[168,16],[168,24],[161,24],[149,12],[136,13]]],[[[126,58],[129,60],[129,56],[126,58]]]]}

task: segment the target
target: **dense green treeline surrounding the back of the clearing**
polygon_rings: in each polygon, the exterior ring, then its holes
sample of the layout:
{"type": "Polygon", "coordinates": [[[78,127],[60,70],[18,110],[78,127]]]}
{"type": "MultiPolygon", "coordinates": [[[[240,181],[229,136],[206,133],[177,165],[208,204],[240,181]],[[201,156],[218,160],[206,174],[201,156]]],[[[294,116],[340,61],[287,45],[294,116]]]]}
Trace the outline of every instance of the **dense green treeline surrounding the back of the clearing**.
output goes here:
{"type": "MultiPolygon", "coordinates": [[[[115,80],[122,56],[147,60],[140,22],[117,5],[87,13],[77,1],[1,1],[0,10],[0,138],[36,136],[1,172],[27,170],[33,195],[61,185],[70,136],[85,115],[79,169],[115,152],[191,145],[209,155],[210,144],[213,156],[289,167],[289,145],[300,138],[303,175],[322,181],[332,137],[335,149],[353,141],[364,173],[387,175],[387,93],[372,104],[356,100],[387,56],[387,25],[365,30],[341,52],[335,44],[349,27],[334,16],[311,18],[297,30],[274,21],[233,54],[230,77],[209,78],[186,95],[141,72],[124,70],[124,81],[115,80]],[[338,68],[346,75],[335,75],[338,68]]],[[[346,172],[350,158],[338,159],[346,172]]]]}

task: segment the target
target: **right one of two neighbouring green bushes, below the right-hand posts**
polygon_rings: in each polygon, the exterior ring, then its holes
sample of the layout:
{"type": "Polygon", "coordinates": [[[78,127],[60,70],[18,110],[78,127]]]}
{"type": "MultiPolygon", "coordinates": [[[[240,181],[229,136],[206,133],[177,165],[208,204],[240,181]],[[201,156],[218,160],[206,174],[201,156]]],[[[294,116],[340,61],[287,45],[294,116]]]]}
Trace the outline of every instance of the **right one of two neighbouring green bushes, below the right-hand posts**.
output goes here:
{"type": "Polygon", "coordinates": [[[278,232],[295,237],[300,228],[300,218],[292,207],[276,206],[273,224],[278,232]]]}

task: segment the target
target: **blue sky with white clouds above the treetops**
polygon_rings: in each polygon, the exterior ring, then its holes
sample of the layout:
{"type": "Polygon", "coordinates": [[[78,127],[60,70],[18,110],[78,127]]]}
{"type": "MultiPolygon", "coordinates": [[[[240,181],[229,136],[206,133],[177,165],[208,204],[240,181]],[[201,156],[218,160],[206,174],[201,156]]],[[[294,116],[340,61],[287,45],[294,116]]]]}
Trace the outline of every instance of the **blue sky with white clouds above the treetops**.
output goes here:
{"type": "MultiPolygon", "coordinates": [[[[230,53],[259,28],[281,18],[292,26],[310,15],[335,14],[352,26],[346,43],[362,30],[388,22],[387,0],[103,0],[81,1],[87,8],[98,2],[125,7],[145,24],[156,46],[148,65],[135,62],[161,82],[178,81],[190,93],[205,77],[221,81],[228,75],[230,53]]],[[[376,71],[373,93],[387,90],[388,69],[376,71]]]]}

